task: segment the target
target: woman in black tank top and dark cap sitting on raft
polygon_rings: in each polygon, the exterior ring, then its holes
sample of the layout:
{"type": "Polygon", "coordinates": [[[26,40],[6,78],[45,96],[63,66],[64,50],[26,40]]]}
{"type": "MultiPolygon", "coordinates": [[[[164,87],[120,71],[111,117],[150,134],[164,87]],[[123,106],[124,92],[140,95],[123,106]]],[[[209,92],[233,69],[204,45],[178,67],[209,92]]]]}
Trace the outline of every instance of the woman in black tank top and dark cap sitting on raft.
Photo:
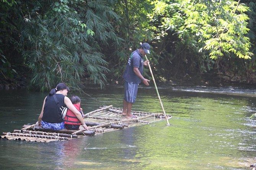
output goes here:
{"type": "Polygon", "coordinates": [[[38,125],[44,129],[52,129],[52,130],[62,130],[65,128],[64,120],[62,119],[60,107],[67,106],[82,122],[82,125],[85,129],[87,126],[81,113],[73,106],[70,99],[67,97],[67,93],[69,88],[65,83],[59,83],[56,88],[52,89],[46,98],[44,98],[44,103],[42,106],[41,114],[38,117],[38,125]],[[59,101],[59,106],[56,104],[54,95],[59,101]]]}

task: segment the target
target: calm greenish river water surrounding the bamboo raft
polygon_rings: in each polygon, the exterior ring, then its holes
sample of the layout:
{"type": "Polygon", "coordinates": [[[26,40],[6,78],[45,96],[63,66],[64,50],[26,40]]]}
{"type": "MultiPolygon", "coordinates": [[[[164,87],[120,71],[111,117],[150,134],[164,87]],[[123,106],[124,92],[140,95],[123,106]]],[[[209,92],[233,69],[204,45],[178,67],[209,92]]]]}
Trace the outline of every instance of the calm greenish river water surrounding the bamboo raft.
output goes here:
{"type": "MultiPolygon", "coordinates": [[[[141,86],[133,110],[161,112],[155,89],[141,86]]],[[[256,163],[256,91],[253,87],[160,87],[166,114],[139,127],[70,141],[0,140],[5,170],[249,170],[256,163]]],[[[123,87],[88,87],[84,113],[122,107],[123,87]],[[90,95],[90,96],[88,96],[90,95]]],[[[35,123],[47,93],[0,91],[0,133],[35,123]]]]}

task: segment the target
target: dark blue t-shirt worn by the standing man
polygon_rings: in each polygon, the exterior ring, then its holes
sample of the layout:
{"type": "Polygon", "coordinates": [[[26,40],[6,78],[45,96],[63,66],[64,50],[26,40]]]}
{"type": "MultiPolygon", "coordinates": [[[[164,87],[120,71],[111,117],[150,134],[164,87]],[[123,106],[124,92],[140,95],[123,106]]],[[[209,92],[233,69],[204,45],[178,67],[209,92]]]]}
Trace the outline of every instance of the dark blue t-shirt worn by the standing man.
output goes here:
{"type": "Polygon", "coordinates": [[[140,83],[140,78],[134,73],[133,67],[138,67],[140,74],[143,73],[143,57],[140,55],[139,50],[135,50],[128,59],[123,78],[126,82],[140,83]]]}

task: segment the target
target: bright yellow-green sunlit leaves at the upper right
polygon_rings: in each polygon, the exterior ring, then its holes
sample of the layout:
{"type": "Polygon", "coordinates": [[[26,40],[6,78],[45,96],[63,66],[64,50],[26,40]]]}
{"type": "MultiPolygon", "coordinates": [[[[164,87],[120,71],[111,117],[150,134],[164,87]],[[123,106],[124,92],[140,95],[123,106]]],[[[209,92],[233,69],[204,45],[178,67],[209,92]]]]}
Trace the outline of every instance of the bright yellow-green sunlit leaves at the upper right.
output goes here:
{"type": "Polygon", "coordinates": [[[230,52],[239,58],[249,59],[253,55],[247,21],[248,7],[232,0],[211,3],[210,1],[178,1],[171,3],[173,13],[165,21],[165,28],[173,27],[179,38],[196,40],[198,47],[209,50],[210,58],[228,56],[230,52]]]}

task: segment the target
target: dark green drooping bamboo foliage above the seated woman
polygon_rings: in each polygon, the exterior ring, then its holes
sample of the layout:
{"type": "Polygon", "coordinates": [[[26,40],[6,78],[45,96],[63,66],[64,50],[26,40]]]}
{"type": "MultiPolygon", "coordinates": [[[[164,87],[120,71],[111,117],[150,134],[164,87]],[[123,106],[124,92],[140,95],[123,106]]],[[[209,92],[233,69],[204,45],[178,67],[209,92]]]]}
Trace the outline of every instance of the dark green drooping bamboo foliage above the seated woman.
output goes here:
{"type": "Polygon", "coordinates": [[[104,87],[109,69],[100,51],[108,41],[119,42],[109,22],[119,18],[111,0],[16,2],[19,48],[33,73],[31,87],[78,87],[81,77],[104,87]]]}

